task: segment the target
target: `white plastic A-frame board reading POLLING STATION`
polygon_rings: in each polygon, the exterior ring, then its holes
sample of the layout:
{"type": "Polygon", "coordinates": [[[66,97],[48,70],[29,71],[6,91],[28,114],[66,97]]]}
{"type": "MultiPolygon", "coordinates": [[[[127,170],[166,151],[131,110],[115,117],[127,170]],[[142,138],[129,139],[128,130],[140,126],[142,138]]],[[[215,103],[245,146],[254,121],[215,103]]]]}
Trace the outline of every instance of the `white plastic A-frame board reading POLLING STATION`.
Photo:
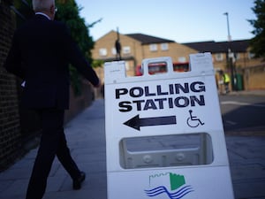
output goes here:
{"type": "Polygon", "coordinates": [[[232,199],[211,54],[190,55],[184,73],[170,57],[144,59],[142,70],[104,65],[108,198],[232,199]]]}

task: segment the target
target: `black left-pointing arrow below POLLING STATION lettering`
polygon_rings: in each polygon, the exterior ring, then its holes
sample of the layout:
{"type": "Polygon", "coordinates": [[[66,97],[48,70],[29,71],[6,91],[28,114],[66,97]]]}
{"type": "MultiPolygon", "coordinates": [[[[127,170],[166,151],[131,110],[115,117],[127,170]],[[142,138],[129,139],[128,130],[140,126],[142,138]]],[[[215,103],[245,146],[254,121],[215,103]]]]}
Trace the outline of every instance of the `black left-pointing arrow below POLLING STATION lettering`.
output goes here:
{"type": "Polygon", "coordinates": [[[155,118],[140,119],[139,115],[134,116],[124,123],[126,126],[130,126],[140,131],[140,126],[160,126],[160,125],[173,125],[177,124],[176,116],[164,116],[155,118]]]}

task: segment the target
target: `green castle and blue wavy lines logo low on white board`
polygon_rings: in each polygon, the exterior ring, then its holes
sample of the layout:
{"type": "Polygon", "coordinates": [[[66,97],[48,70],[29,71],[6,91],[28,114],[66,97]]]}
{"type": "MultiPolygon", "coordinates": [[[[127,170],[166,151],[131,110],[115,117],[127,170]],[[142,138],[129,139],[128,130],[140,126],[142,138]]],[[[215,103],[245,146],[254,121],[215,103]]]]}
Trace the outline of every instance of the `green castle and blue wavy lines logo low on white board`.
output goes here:
{"type": "Polygon", "coordinates": [[[186,180],[183,175],[171,172],[150,175],[149,186],[154,187],[145,190],[146,194],[150,197],[165,194],[170,199],[180,199],[193,192],[193,188],[190,185],[186,185],[186,180]],[[161,182],[165,182],[167,185],[161,185],[161,182]]]}

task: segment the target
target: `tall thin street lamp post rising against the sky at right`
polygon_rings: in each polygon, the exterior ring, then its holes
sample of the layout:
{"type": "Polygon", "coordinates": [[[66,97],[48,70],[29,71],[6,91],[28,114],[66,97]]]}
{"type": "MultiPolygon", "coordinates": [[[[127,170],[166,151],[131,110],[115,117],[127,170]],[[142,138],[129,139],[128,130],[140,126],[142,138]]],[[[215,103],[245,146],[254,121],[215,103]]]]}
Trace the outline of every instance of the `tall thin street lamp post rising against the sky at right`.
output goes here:
{"type": "Polygon", "coordinates": [[[227,63],[228,66],[231,70],[231,88],[232,90],[236,90],[235,87],[235,80],[234,80],[234,66],[233,66],[233,62],[232,62],[232,57],[233,57],[233,53],[231,51],[231,34],[230,34],[230,27],[229,27],[229,13],[228,12],[224,12],[224,15],[226,15],[226,21],[227,21],[227,32],[228,32],[228,50],[227,50],[227,63]]]}

